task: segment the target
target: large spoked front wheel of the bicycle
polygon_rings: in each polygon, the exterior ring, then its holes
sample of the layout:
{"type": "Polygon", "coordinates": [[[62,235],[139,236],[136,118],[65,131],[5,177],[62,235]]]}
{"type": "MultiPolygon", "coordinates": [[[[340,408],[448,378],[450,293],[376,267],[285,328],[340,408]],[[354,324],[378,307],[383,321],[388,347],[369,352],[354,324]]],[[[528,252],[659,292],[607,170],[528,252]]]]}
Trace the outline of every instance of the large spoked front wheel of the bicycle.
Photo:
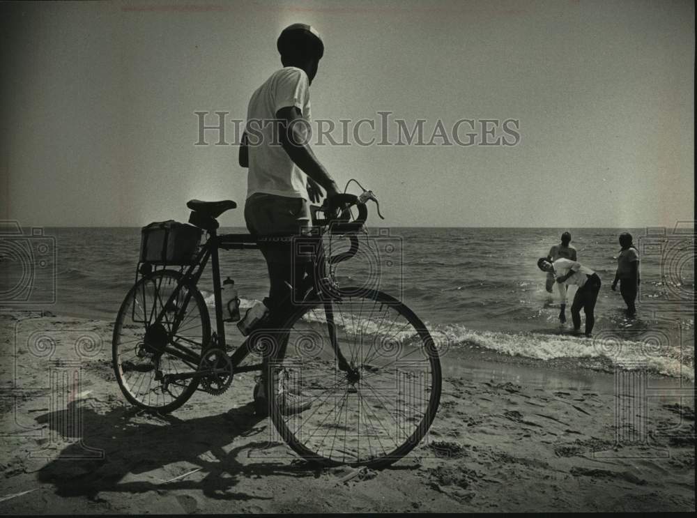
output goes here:
{"type": "Polygon", "coordinates": [[[399,300],[360,288],[340,295],[300,307],[284,326],[266,376],[270,418],[313,462],[385,466],[410,452],[436,416],[438,351],[399,300]]]}

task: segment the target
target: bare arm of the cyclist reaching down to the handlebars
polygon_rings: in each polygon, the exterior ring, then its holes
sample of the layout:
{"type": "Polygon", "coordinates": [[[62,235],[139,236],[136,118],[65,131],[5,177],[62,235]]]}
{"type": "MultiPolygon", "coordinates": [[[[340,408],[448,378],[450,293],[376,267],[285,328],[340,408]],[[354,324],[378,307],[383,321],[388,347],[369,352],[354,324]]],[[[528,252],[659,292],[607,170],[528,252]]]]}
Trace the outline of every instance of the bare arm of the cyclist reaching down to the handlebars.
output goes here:
{"type": "Polygon", "coordinates": [[[309,146],[309,142],[307,142],[307,138],[302,134],[302,123],[293,123],[297,119],[302,119],[300,109],[296,106],[284,107],[276,112],[276,117],[281,121],[279,125],[281,145],[293,163],[300,167],[309,178],[318,183],[327,192],[327,197],[338,195],[337,183],[319,163],[309,146]]]}

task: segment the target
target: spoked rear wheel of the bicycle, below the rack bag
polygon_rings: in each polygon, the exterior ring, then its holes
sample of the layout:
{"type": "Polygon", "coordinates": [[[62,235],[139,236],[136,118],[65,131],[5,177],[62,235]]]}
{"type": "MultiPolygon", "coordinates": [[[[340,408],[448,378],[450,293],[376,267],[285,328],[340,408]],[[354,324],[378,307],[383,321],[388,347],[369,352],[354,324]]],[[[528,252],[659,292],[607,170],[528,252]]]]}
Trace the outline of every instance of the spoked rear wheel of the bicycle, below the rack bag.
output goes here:
{"type": "Polygon", "coordinates": [[[210,342],[210,320],[203,296],[196,287],[182,284],[182,275],[160,270],[141,278],[128,292],[114,324],[112,355],[118,386],[131,404],[147,411],[178,409],[196,390],[196,377],[171,380],[172,374],[194,372],[201,352],[210,342]],[[158,314],[165,309],[161,322],[158,314]],[[174,330],[176,315],[181,323],[174,330]],[[167,349],[177,349],[183,360],[167,349]]]}

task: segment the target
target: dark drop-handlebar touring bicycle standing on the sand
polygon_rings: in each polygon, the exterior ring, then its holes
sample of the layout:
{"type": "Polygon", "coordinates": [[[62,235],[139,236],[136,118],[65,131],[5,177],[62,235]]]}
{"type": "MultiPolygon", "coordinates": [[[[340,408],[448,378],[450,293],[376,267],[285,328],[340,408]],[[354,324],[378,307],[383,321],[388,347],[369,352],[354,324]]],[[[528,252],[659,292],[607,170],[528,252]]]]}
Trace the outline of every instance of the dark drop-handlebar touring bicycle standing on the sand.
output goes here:
{"type": "Polygon", "coordinates": [[[259,248],[266,240],[217,234],[216,218],[235,208],[233,201],[189,201],[189,222],[206,231],[205,243],[178,270],[167,264],[153,269],[139,261],[140,278],[116,317],[114,372],[128,402],[167,413],[197,389],[220,395],[235,374],[263,371],[268,415],[284,441],[305,459],[326,466],[376,467],[410,452],[427,434],[440,402],[436,344],[404,303],[367,287],[339,287],[335,279],[335,265],[358,252],[370,200],[378,203],[365,190],[360,196],[338,195],[313,214],[311,235],[291,237],[313,247],[314,285],[275,319],[280,325],[255,330],[231,354],[218,251],[259,248]],[[325,218],[318,218],[319,213],[325,218]],[[327,256],[323,238],[335,236],[347,238],[350,246],[332,256],[330,241],[327,256]],[[197,289],[209,259],[214,333],[197,289]],[[261,363],[242,365],[252,352],[261,355],[261,363]],[[292,397],[303,399],[306,408],[287,411],[292,397]]]}

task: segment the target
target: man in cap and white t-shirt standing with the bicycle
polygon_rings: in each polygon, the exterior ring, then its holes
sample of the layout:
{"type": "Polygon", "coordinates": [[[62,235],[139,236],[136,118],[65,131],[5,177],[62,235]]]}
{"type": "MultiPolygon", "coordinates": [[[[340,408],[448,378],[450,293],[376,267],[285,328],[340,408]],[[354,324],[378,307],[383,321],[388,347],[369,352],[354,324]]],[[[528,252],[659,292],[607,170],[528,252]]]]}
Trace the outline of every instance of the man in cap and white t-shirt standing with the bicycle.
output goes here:
{"type": "MultiPolygon", "coordinates": [[[[277,49],[283,68],[252,94],[239,153],[240,166],[249,168],[245,222],[261,238],[270,280],[268,297],[249,312],[268,321],[297,300],[291,290],[302,298],[300,284],[306,273],[312,278],[312,258],[293,258],[292,241],[263,244],[263,238],[302,234],[311,225],[309,202],[319,201],[321,189],[328,198],[339,194],[309,146],[309,86],[324,54],[322,39],[312,26],[292,24],[281,32],[277,49]]],[[[250,319],[248,314],[245,321],[250,319]]]]}

